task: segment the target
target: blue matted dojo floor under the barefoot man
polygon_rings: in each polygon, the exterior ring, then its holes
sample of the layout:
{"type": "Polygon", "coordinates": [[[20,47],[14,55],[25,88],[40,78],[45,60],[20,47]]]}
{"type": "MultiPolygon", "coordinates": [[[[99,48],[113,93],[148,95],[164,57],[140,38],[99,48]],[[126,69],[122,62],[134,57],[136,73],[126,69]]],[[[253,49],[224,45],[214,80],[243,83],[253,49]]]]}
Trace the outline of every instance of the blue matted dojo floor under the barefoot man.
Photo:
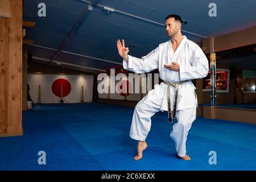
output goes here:
{"type": "Polygon", "coordinates": [[[197,117],[187,152],[176,157],[166,113],[156,113],[143,159],[133,160],[133,108],[106,104],[35,105],[23,112],[24,135],[0,138],[1,170],[255,170],[256,125],[197,117]],[[38,152],[46,152],[46,165],[38,152]],[[209,164],[216,151],[217,164],[209,164]]]}

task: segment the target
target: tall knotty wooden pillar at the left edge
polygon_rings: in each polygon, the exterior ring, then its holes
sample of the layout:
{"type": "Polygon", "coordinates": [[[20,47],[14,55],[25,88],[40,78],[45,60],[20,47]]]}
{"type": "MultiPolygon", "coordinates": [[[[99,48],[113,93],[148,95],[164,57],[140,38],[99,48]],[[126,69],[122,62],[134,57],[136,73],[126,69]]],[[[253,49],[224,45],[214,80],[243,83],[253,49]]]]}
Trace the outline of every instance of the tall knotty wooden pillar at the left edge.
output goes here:
{"type": "Polygon", "coordinates": [[[10,4],[11,18],[0,18],[1,137],[22,135],[22,1],[10,4]]]}

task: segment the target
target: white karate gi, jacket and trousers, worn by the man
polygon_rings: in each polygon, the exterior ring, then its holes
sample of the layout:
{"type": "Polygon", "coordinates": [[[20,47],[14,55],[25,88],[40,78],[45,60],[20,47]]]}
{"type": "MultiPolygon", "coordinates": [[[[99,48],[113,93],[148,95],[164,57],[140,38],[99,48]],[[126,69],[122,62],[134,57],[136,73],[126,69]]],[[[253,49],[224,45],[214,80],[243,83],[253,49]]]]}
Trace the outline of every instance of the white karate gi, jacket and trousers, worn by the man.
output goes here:
{"type": "MultiPolygon", "coordinates": [[[[159,69],[159,76],[168,82],[178,82],[192,80],[207,76],[209,71],[207,57],[201,48],[186,36],[177,47],[175,53],[172,49],[171,40],[159,44],[159,47],[148,53],[148,55],[138,59],[128,55],[128,63],[123,60],[123,68],[135,73],[151,72],[159,69]],[[164,67],[170,65],[172,61],[179,63],[180,71],[171,71],[164,67]]],[[[155,85],[155,88],[148,92],[134,109],[133,120],[131,122],[130,137],[135,140],[144,141],[151,127],[151,117],[158,111],[168,110],[167,84],[162,82],[155,85]]],[[[185,82],[179,86],[177,97],[177,123],[173,126],[170,137],[174,140],[177,155],[185,156],[188,131],[192,122],[196,119],[197,98],[195,86],[192,81],[185,82]]],[[[171,110],[173,110],[174,87],[170,87],[171,110]]]]}

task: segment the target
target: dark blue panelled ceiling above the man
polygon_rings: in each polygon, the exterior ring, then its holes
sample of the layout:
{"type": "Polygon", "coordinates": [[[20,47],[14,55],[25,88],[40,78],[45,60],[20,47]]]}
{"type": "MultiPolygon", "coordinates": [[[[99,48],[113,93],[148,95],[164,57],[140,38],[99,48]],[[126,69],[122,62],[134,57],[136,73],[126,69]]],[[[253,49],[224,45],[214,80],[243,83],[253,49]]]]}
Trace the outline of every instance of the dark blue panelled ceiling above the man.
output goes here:
{"type": "MultiPolygon", "coordinates": [[[[96,73],[122,65],[117,39],[135,46],[130,54],[137,57],[169,40],[163,26],[168,14],[179,14],[186,20],[183,34],[199,43],[209,36],[255,26],[256,1],[24,0],[23,20],[36,23],[34,28],[26,28],[25,39],[34,40],[29,46],[32,60],[51,60],[56,66],[67,64],[72,69],[96,73]],[[38,16],[38,4],[42,2],[46,4],[46,17],[38,16]],[[209,3],[216,3],[216,17],[208,15],[209,3]],[[108,8],[114,11],[106,11],[108,8]],[[56,53],[57,49],[61,52],[56,53]]],[[[253,60],[255,57],[248,61],[253,60]]]]}

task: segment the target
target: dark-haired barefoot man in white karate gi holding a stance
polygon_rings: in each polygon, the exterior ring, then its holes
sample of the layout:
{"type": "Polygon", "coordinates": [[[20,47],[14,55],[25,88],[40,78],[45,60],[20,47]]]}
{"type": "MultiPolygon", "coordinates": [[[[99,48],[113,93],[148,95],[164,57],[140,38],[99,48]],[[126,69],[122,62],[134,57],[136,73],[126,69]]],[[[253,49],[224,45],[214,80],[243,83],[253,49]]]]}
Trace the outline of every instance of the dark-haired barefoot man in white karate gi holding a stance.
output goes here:
{"type": "Polygon", "coordinates": [[[141,59],[128,55],[129,49],[125,47],[124,40],[122,43],[117,41],[124,69],[135,73],[159,69],[159,77],[164,81],[155,85],[135,106],[130,128],[130,137],[138,140],[135,160],[142,159],[142,152],[147,148],[151,117],[160,110],[166,110],[170,117],[177,118],[170,137],[175,142],[177,155],[181,159],[191,160],[187,155],[186,140],[192,122],[196,119],[197,107],[196,88],[191,80],[207,76],[209,68],[208,59],[201,48],[181,34],[181,24],[179,15],[168,15],[165,27],[171,39],[159,44],[141,59]]]}

